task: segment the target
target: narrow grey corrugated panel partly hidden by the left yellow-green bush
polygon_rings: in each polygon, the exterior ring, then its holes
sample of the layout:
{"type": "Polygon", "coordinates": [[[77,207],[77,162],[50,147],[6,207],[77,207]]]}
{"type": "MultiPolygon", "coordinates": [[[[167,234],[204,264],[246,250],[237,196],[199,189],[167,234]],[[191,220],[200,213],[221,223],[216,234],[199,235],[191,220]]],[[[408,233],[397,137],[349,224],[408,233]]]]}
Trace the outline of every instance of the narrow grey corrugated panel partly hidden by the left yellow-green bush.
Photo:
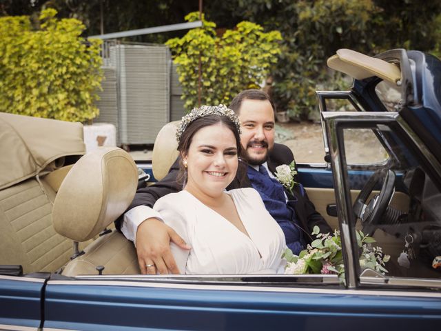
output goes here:
{"type": "Polygon", "coordinates": [[[111,123],[116,128],[116,144],[119,141],[119,118],[118,118],[118,98],[116,94],[116,68],[103,67],[104,78],[101,81],[102,91],[98,92],[99,101],[95,102],[99,108],[99,117],[94,119],[95,123],[111,123]]]}

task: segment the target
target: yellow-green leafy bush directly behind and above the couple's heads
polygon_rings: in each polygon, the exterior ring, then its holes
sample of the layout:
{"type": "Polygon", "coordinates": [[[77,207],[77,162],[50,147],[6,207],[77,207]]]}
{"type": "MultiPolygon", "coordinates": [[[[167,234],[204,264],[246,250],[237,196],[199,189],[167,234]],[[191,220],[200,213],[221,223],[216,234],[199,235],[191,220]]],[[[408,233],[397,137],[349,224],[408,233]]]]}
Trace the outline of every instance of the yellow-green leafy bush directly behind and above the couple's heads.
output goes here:
{"type": "MultiPolygon", "coordinates": [[[[198,12],[188,14],[185,20],[198,20],[198,12]]],[[[258,24],[244,21],[217,37],[215,28],[215,23],[203,17],[203,28],[189,30],[184,37],[166,43],[178,64],[187,110],[198,105],[199,56],[201,103],[216,105],[229,103],[240,90],[258,88],[280,54],[278,31],[263,32],[258,24]]]]}

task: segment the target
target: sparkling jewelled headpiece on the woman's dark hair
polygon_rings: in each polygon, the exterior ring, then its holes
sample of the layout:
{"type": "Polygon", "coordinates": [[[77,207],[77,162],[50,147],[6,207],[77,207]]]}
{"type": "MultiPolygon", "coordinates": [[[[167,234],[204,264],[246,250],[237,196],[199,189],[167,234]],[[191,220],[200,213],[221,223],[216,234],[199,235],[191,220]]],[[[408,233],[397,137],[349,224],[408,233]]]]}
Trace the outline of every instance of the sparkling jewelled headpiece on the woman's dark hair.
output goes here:
{"type": "Polygon", "coordinates": [[[236,114],[234,114],[233,110],[229,109],[227,106],[224,106],[222,103],[220,103],[219,106],[201,106],[201,108],[193,108],[191,112],[186,114],[181,119],[178,130],[176,130],[176,140],[178,141],[178,145],[179,141],[181,140],[182,134],[184,133],[187,126],[189,126],[189,123],[192,123],[192,121],[196,119],[209,115],[228,117],[228,119],[234,123],[240,134],[240,121],[236,114]]]}

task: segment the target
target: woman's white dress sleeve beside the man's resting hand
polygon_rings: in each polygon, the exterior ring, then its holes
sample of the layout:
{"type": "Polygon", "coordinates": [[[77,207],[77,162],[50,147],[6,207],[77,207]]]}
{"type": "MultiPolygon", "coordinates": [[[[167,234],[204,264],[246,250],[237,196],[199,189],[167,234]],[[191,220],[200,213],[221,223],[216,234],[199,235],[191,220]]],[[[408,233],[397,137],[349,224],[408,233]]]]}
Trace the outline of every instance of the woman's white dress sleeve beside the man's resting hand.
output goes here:
{"type": "MultiPolygon", "coordinates": [[[[169,225],[177,234],[184,239],[185,243],[192,245],[192,240],[188,235],[188,221],[187,213],[183,208],[180,208],[180,203],[176,203],[176,199],[172,197],[174,194],[170,194],[167,197],[163,197],[156,201],[153,209],[161,214],[161,219],[167,225],[169,225]]],[[[187,259],[189,257],[190,250],[183,250],[178,245],[170,243],[170,249],[176,265],[178,265],[179,272],[185,274],[185,266],[187,265],[187,259]]]]}

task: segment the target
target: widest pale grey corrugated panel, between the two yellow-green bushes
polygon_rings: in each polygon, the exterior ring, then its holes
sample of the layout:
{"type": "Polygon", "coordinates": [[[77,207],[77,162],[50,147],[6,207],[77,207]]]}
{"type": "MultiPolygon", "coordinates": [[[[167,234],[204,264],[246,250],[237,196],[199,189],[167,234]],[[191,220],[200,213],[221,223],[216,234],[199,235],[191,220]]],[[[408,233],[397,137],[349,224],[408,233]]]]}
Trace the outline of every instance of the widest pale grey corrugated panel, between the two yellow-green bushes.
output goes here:
{"type": "Polygon", "coordinates": [[[123,144],[151,144],[170,121],[170,51],[166,46],[117,45],[119,132],[123,144]]]}

